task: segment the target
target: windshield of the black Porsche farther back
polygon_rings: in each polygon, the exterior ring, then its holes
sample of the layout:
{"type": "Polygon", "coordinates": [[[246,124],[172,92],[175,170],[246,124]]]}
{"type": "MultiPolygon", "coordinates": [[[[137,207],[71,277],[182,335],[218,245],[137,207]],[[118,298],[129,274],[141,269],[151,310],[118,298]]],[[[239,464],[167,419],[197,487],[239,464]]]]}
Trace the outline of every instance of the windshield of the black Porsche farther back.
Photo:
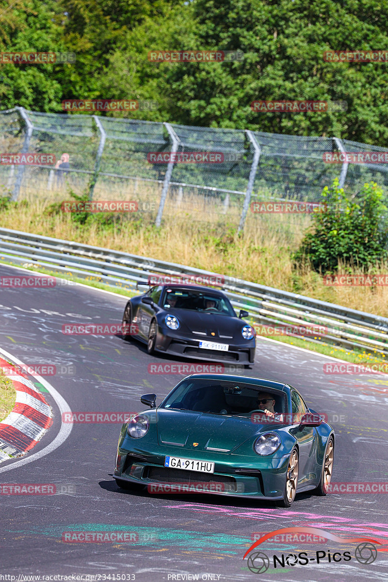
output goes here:
{"type": "Polygon", "coordinates": [[[216,315],[229,315],[236,317],[229,299],[207,290],[198,289],[165,289],[162,299],[164,309],[188,309],[213,313],[216,315]]]}

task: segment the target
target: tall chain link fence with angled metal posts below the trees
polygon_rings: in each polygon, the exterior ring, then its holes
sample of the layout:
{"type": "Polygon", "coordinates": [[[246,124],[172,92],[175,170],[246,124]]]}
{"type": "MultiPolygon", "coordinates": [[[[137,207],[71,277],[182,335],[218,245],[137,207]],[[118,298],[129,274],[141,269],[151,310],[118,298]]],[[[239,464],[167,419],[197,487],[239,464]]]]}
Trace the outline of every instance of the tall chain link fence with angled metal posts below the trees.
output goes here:
{"type": "Polygon", "coordinates": [[[325,161],[326,152],[383,151],[336,137],[16,107],[0,112],[0,140],[0,184],[14,200],[29,196],[63,200],[71,189],[77,195],[87,192],[93,200],[136,201],[138,210],[156,225],[162,218],[182,214],[194,220],[227,219],[242,230],[247,219],[257,219],[251,212],[255,200],[318,203],[323,187],[336,177],[354,196],[368,180],[388,186],[383,162],[325,161]],[[3,162],[3,155],[26,152],[41,157],[33,165],[12,164],[13,159],[3,162]],[[44,154],[51,155],[48,162],[44,154]],[[67,163],[55,168],[61,158],[67,163]]]}

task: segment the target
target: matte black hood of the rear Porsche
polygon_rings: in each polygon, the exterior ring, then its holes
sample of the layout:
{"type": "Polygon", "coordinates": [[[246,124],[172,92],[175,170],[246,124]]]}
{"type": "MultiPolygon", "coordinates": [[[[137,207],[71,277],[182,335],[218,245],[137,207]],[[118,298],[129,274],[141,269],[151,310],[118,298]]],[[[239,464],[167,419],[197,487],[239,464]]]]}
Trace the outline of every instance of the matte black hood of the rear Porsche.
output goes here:
{"type": "MultiPolygon", "coordinates": [[[[174,315],[179,319],[181,324],[185,325],[190,332],[202,332],[211,336],[211,332],[215,333],[216,336],[229,336],[233,337],[235,333],[240,333],[240,329],[247,325],[244,321],[239,320],[237,317],[231,317],[229,315],[217,315],[215,313],[202,313],[201,311],[190,311],[190,310],[171,310],[174,311],[174,315]]],[[[240,333],[241,335],[241,333],[240,333]]],[[[198,334],[198,339],[201,335],[198,334]]],[[[242,336],[241,338],[242,339],[242,336]]]]}

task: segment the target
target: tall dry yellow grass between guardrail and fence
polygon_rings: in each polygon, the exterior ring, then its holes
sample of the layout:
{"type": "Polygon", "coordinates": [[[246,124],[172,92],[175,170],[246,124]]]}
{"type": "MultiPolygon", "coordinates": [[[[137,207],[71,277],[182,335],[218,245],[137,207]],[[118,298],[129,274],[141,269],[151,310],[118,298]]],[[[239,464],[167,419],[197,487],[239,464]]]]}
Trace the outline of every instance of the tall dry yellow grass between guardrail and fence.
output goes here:
{"type": "MultiPolygon", "coordinates": [[[[140,208],[109,229],[101,228],[98,223],[80,226],[62,212],[48,217],[45,210],[54,199],[70,199],[65,191],[42,195],[25,191],[17,208],[0,212],[0,226],[177,262],[387,315],[386,287],[328,287],[311,269],[293,268],[291,252],[298,248],[304,230],[311,223],[308,215],[248,212],[244,236],[238,236],[236,226],[241,201],[232,200],[225,211],[220,198],[194,197],[187,190],[180,201],[176,193],[169,195],[162,226],[156,229],[153,222],[160,190],[159,186],[146,184],[137,186],[134,192],[132,184],[127,190],[106,195],[111,200],[137,200],[140,208]],[[151,211],[142,210],[147,207],[151,211]]],[[[102,198],[101,191],[96,192],[96,198],[102,198]]],[[[388,265],[379,265],[378,272],[388,273],[388,265]]]]}

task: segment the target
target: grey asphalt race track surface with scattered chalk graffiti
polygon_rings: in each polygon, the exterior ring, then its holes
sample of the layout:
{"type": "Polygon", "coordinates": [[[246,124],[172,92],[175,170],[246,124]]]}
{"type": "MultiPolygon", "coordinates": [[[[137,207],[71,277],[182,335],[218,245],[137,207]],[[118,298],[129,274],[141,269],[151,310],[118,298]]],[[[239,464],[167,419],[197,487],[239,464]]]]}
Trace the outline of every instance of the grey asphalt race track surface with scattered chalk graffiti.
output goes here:
{"type": "MultiPolygon", "coordinates": [[[[25,271],[0,265],[0,276],[17,274],[25,271]]],[[[143,410],[143,393],[155,392],[161,402],[183,377],[149,374],[148,364],[176,360],[148,356],[144,345],[124,342],[119,335],[62,333],[62,325],[69,323],[117,324],[125,304],[125,297],[79,285],[2,288],[0,347],[28,365],[55,364],[57,374],[45,379],[73,413],[143,410]]],[[[328,414],[336,432],[332,482],[386,483],[388,377],[324,374],[323,363],[328,361],[259,339],[256,363],[244,373],[287,381],[300,389],[312,408],[328,414]]],[[[258,574],[248,569],[243,555],[255,533],[286,527],[321,528],[343,538],[388,540],[388,494],[338,493],[325,498],[300,494],[290,509],[280,509],[222,496],[126,492],[112,478],[121,423],[73,424],[60,446],[26,463],[35,453],[44,452],[60,430],[58,406],[49,392],[45,398],[54,410],[54,424],[21,462],[13,459],[0,465],[0,484],[49,483],[56,484],[57,492],[0,496],[3,576],[17,580],[20,574],[83,574],[87,580],[86,575],[98,574],[95,580],[152,582],[387,580],[388,553],[380,551],[373,563],[363,564],[355,559],[357,543],[265,542],[258,550],[270,560],[274,553],[279,558],[282,554],[297,558],[299,552],[307,552],[309,562],[294,565],[289,558],[286,566],[276,569],[271,562],[266,572],[258,574]],[[63,532],[81,530],[126,531],[136,533],[137,541],[62,541],[63,532]],[[317,551],[320,556],[326,552],[319,563],[317,551]],[[329,562],[329,551],[341,555],[349,551],[352,557],[329,562]],[[118,577],[123,574],[126,577],[118,577]]]]}

